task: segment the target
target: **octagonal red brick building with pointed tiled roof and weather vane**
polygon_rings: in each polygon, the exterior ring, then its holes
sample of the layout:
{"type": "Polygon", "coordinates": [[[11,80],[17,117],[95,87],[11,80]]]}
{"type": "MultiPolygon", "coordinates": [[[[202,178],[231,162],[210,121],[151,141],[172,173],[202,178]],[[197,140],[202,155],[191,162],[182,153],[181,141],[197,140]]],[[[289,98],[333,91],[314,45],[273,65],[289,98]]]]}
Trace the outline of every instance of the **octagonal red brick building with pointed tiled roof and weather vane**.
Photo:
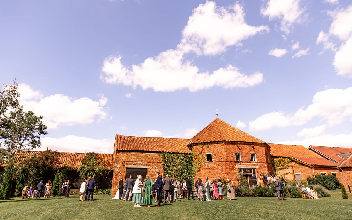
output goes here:
{"type": "Polygon", "coordinates": [[[219,118],[191,138],[188,147],[201,152],[206,158],[196,174],[204,180],[217,180],[220,176],[238,184],[239,175],[250,178],[253,174],[272,172],[270,146],[219,118]]]}

